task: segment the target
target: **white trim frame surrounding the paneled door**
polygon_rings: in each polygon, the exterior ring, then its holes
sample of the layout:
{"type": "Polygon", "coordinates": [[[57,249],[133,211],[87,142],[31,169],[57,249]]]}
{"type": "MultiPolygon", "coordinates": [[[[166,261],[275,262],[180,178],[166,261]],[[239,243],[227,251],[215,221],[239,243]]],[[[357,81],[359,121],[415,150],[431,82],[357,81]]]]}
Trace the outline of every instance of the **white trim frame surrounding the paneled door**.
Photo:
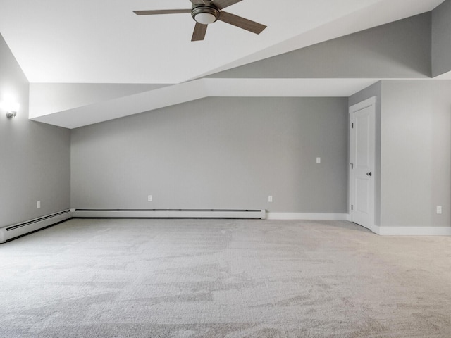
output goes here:
{"type": "Polygon", "coordinates": [[[350,118],[350,133],[349,133],[349,139],[350,139],[350,167],[349,167],[349,200],[350,200],[350,204],[349,204],[349,213],[350,213],[350,221],[353,221],[353,210],[352,210],[352,206],[355,206],[355,194],[354,194],[354,175],[355,175],[355,171],[352,170],[352,165],[354,165],[355,161],[354,161],[354,134],[353,134],[353,130],[352,130],[352,123],[354,122],[353,120],[353,114],[357,113],[359,111],[362,111],[362,109],[365,108],[369,108],[369,107],[373,107],[372,111],[371,111],[371,120],[372,120],[372,125],[371,125],[371,142],[372,145],[371,147],[372,149],[372,153],[373,153],[373,158],[372,158],[372,163],[373,163],[373,168],[371,168],[371,172],[372,172],[372,176],[371,176],[371,180],[369,180],[370,182],[370,191],[371,191],[371,196],[369,196],[369,204],[371,204],[370,208],[369,208],[369,223],[367,225],[364,225],[365,227],[368,227],[369,230],[374,231],[374,202],[375,202],[375,179],[374,179],[374,175],[375,173],[375,168],[376,168],[376,96],[373,96],[369,99],[366,99],[362,102],[359,102],[358,104],[354,104],[353,106],[350,106],[349,109],[349,118],[350,118]]]}

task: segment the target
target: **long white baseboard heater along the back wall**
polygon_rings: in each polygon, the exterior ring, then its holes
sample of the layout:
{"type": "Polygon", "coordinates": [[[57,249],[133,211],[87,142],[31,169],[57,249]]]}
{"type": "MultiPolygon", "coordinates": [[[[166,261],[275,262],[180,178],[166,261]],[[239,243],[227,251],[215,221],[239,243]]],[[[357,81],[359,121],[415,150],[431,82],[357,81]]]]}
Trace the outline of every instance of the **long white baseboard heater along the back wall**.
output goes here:
{"type": "Polygon", "coordinates": [[[266,210],[75,209],[75,218],[266,218],[266,210]]]}

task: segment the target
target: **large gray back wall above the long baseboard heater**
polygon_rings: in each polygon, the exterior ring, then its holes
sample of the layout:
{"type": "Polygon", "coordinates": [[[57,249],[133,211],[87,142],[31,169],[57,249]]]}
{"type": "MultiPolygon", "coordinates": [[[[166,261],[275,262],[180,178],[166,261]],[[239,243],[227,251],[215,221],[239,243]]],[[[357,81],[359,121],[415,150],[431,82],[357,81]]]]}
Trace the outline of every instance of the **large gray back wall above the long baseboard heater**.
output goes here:
{"type": "Polygon", "coordinates": [[[347,115],[346,98],[209,98],[80,127],[71,206],[347,213],[347,115]]]}

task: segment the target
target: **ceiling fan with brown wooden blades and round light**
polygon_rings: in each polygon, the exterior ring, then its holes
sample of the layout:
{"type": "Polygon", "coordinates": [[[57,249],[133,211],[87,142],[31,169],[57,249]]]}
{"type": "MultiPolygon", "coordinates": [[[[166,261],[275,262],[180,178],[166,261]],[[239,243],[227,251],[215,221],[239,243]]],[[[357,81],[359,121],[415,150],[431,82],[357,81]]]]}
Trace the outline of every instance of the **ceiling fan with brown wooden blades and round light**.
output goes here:
{"type": "Polygon", "coordinates": [[[242,0],[190,0],[192,2],[191,9],[163,9],[157,11],[133,11],[136,15],[160,15],[160,14],[179,14],[191,13],[192,18],[196,21],[191,41],[200,41],[205,38],[206,27],[210,23],[217,20],[223,21],[230,25],[240,27],[243,30],[260,34],[265,25],[255,23],[254,21],[241,18],[240,16],[223,11],[224,8],[232,6],[242,0]]]}

